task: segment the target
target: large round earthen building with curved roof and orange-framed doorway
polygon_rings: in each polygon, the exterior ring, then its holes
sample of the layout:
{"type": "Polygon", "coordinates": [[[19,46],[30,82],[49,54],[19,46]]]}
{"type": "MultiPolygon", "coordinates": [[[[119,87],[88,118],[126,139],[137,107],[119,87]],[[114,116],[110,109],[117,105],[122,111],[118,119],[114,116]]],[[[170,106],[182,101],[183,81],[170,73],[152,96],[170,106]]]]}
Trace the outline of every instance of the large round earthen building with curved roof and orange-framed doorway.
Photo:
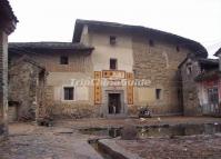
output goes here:
{"type": "Polygon", "coordinates": [[[147,106],[153,115],[182,115],[179,66],[187,57],[208,56],[200,43],[172,33],[89,20],[76,21],[72,42],[17,42],[9,52],[10,67],[18,68],[9,73],[17,118],[29,109],[37,118],[119,118],[147,106]],[[18,67],[27,62],[29,69],[18,67]]]}

